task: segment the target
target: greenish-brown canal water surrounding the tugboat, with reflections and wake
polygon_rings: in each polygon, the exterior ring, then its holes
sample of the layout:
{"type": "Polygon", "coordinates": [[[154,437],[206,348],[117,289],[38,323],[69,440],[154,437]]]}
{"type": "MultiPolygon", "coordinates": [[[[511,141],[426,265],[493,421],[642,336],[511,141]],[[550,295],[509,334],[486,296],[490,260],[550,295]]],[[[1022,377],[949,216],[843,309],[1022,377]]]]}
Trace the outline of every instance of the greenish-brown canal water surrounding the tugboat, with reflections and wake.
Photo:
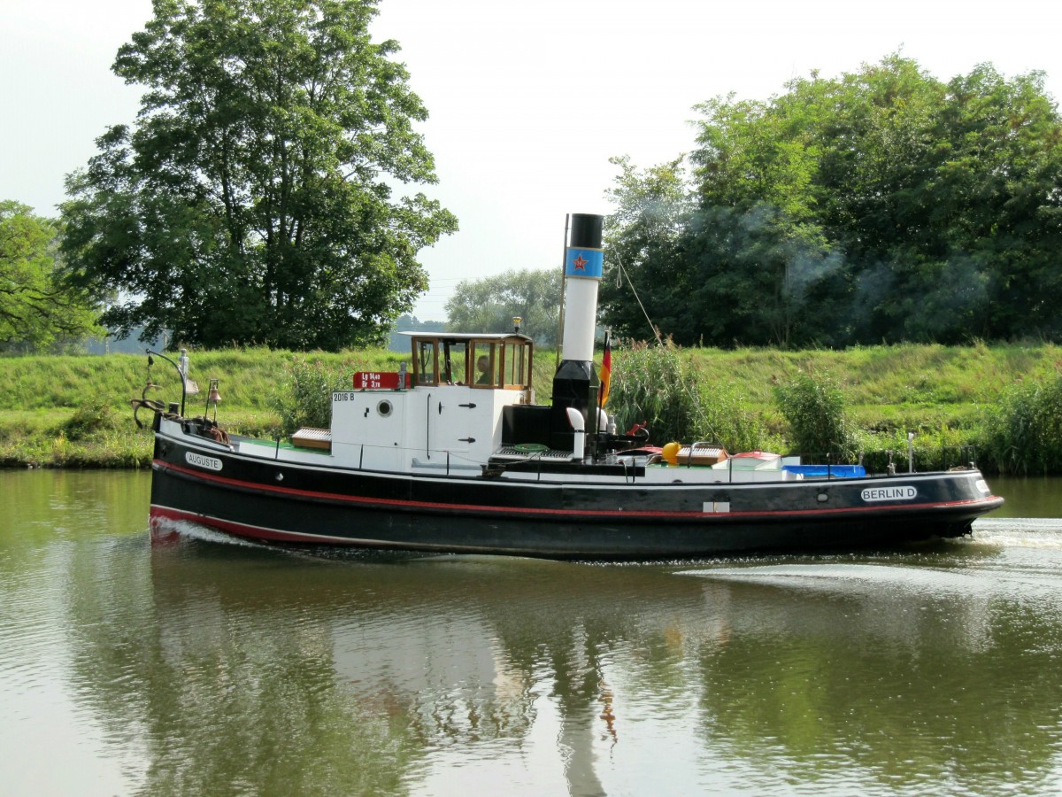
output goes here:
{"type": "Polygon", "coordinates": [[[1057,794],[1062,499],[903,552],[595,565],[147,533],[0,472],[4,795],[1057,794]]]}

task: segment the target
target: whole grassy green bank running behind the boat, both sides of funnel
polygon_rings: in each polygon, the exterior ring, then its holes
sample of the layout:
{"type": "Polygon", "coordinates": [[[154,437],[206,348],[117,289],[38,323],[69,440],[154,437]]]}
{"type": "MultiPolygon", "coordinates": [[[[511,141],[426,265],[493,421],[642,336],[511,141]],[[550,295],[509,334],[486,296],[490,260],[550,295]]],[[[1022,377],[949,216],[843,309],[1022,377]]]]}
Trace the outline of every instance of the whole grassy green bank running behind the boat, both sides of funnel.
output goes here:
{"type": "MultiPolygon", "coordinates": [[[[536,353],[535,389],[548,402],[554,355],[536,353]]],[[[683,350],[681,356],[709,402],[757,419],[759,444],[784,447],[788,429],[775,387],[800,372],[828,374],[843,386],[849,414],[867,447],[902,448],[908,431],[928,460],[936,448],[989,445],[1001,396],[1035,379],[1054,378],[1062,350],[1054,345],[898,345],[843,352],[683,350]]],[[[408,356],[386,351],[307,355],[226,350],[191,355],[203,393],[188,400],[202,413],[207,380],[221,380],[218,418],[233,431],[270,436],[279,426],[271,397],[295,358],[331,371],[394,371],[408,356]]],[[[623,351],[614,352],[622,358],[623,351]]],[[[147,379],[143,355],[0,359],[0,464],[7,467],[137,468],[150,461],[151,436],[137,429],[127,401],[147,379]]],[[[174,369],[156,359],[149,397],[179,401],[174,369]]],[[[141,413],[144,417],[147,413],[141,413]]],[[[982,464],[983,455],[981,457],[982,464]]],[[[931,464],[927,462],[927,464],[931,464]]],[[[991,467],[991,463],[989,463],[991,467]]]]}

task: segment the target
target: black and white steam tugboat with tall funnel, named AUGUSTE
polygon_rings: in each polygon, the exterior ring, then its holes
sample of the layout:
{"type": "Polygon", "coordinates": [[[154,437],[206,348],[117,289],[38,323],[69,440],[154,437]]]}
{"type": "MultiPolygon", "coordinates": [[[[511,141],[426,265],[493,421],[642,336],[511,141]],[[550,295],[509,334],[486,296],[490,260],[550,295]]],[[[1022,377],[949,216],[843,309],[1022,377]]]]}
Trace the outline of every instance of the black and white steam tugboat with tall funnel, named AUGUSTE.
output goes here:
{"type": "Polygon", "coordinates": [[[571,217],[550,405],[535,403],[534,346],[518,326],[410,334],[409,366],[354,374],[331,395],[330,428],[299,429],[290,444],[186,418],[184,402],[137,400],[154,412],[152,528],[190,521],[294,545],[639,560],[959,537],[1003,504],[973,463],[868,475],[704,443],[651,448],[644,433],[611,429],[594,367],[602,224],[571,217]]]}

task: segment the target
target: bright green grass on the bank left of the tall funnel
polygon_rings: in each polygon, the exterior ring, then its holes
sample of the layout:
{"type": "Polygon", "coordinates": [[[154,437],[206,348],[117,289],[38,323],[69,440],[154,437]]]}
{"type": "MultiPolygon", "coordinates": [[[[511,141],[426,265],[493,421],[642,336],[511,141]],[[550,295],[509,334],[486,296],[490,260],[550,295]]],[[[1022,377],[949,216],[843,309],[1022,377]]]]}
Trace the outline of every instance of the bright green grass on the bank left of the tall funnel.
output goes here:
{"type": "MultiPolygon", "coordinates": [[[[170,355],[176,359],[175,355],[170,355]]],[[[272,396],[298,359],[321,362],[328,370],[397,371],[408,355],[386,350],[276,352],[230,349],[191,352],[189,375],[200,387],[189,395],[186,414],[206,412],[210,378],[220,379],[218,420],[229,431],[271,437],[280,427],[272,396]]],[[[534,386],[539,401],[549,400],[554,370],[552,353],[534,362],[534,386]]],[[[0,357],[0,467],[144,468],[151,463],[152,438],[137,429],[131,398],[144,395],[148,358],[142,354],[99,356],[0,357]],[[69,424],[79,411],[92,410],[106,419],[71,439],[69,424]]],[[[151,369],[157,387],[147,397],[181,401],[176,370],[159,357],[151,369]]],[[[211,410],[212,413],[212,410],[211,410]]],[[[141,411],[143,421],[150,412],[141,411]]]]}

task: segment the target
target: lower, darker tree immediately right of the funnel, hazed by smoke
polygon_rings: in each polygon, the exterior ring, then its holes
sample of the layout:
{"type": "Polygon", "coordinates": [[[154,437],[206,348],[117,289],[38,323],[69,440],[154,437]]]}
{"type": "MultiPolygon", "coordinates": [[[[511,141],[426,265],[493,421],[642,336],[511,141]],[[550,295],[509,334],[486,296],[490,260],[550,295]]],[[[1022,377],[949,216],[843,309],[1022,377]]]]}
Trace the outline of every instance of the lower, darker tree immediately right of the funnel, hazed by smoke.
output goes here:
{"type": "Polygon", "coordinates": [[[791,213],[761,196],[714,198],[698,207],[681,159],[646,170],[628,158],[613,163],[621,173],[609,192],[616,211],[605,243],[626,278],[602,283],[605,324],[627,337],[651,338],[648,315],[683,345],[822,339],[825,319],[800,312],[836,268],[815,225],[794,224],[791,213]]]}

